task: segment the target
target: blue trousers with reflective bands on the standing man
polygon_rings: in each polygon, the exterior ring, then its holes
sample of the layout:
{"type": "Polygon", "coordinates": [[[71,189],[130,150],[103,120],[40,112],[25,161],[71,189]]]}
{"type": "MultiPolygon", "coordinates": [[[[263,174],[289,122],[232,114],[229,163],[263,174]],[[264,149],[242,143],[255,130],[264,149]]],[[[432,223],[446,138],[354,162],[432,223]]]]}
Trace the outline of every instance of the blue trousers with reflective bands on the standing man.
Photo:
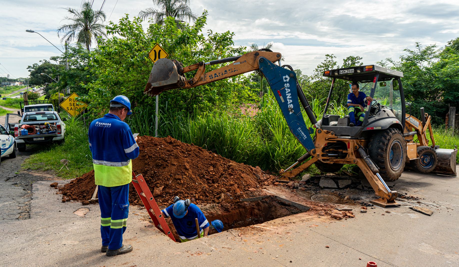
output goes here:
{"type": "Polygon", "coordinates": [[[129,213],[129,184],[106,187],[99,185],[101,207],[102,245],[118,250],[123,244],[123,233],[129,213]]]}

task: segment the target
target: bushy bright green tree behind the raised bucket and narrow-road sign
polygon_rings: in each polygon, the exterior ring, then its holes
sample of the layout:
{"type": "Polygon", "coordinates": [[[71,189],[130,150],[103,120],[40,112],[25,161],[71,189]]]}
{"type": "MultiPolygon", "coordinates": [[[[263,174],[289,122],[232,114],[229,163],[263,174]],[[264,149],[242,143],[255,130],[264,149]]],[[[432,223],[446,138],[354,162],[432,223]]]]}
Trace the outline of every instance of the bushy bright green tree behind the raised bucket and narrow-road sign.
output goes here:
{"type": "MultiPolygon", "coordinates": [[[[109,22],[107,33],[111,36],[91,52],[87,68],[96,79],[84,86],[88,90],[84,100],[90,102],[95,113],[105,112],[107,103],[115,95],[128,96],[135,111],[154,106],[154,98],[144,95],[143,91],[153,66],[146,55],[156,43],[169,53],[169,59],[176,59],[184,66],[244,53],[245,47],[234,48],[234,33],[213,33],[212,30],[202,33],[206,21],[207,11],[194,25],[167,17],[163,25],[150,24],[147,31],[139,17],[130,20],[126,16],[118,24],[109,22]]],[[[206,72],[218,67],[221,65],[206,66],[206,72]]],[[[195,73],[185,75],[191,78],[195,73]]],[[[193,89],[169,90],[160,95],[160,108],[165,111],[167,105],[168,111],[191,114],[196,110],[238,106],[257,97],[246,83],[246,76],[239,75],[193,89]]]]}

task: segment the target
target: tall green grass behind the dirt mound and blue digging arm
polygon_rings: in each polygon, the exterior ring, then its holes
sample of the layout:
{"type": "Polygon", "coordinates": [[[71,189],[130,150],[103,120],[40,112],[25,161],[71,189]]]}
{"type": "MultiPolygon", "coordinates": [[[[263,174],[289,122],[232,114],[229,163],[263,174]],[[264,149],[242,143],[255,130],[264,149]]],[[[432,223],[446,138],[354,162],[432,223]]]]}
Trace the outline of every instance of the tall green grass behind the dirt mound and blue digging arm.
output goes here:
{"type": "MultiPolygon", "coordinates": [[[[310,102],[313,111],[322,117],[322,100],[310,102]]],[[[328,113],[344,115],[346,108],[332,101],[328,113]]],[[[305,124],[312,123],[303,114],[305,124]]],[[[154,135],[154,109],[134,113],[128,121],[133,132],[154,135]]],[[[306,153],[291,134],[277,101],[265,95],[255,117],[237,111],[196,111],[194,116],[182,112],[160,111],[158,136],[172,136],[195,144],[237,162],[264,169],[279,170],[306,153]]]]}

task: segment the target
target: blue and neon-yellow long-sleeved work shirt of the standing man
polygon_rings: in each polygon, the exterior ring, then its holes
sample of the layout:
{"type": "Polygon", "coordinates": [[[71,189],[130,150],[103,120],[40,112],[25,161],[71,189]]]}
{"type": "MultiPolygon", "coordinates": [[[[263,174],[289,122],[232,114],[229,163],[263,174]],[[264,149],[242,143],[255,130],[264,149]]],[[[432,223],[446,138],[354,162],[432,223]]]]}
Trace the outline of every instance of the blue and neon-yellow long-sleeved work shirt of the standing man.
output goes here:
{"type": "Polygon", "coordinates": [[[129,184],[132,162],[139,156],[139,146],[126,122],[113,114],[91,122],[88,130],[95,184],[106,187],[129,184]]]}

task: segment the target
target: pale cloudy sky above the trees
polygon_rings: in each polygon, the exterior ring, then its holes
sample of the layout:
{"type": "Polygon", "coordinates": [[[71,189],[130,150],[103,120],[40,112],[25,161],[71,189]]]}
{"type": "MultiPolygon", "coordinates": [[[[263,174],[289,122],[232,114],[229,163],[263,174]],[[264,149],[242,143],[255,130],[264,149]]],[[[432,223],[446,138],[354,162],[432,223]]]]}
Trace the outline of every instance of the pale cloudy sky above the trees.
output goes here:
{"type": "MultiPolygon", "coordinates": [[[[0,77],[27,77],[27,66],[60,52],[56,28],[67,11],[82,0],[0,0],[0,77]]],[[[103,0],[94,0],[100,9],[103,0]]],[[[106,0],[102,10],[117,22],[131,16],[152,0],[106,0]],[[116,4],[116,6],[115,6],[116,4]]],[[[235,33],[236,46],[274,42],[274,51],[285,64],[311,74],[325,54],[339,62],[346,56],[362,56],[364,64],[386,57],[397,58],[415,42],[444,46],[459,36],[459,2],[445,0],[190,0],[196,14],[209,11],[208,29],[235,33]]],[[[198,61],[198,59],[196,59],[198,61]]]]}

